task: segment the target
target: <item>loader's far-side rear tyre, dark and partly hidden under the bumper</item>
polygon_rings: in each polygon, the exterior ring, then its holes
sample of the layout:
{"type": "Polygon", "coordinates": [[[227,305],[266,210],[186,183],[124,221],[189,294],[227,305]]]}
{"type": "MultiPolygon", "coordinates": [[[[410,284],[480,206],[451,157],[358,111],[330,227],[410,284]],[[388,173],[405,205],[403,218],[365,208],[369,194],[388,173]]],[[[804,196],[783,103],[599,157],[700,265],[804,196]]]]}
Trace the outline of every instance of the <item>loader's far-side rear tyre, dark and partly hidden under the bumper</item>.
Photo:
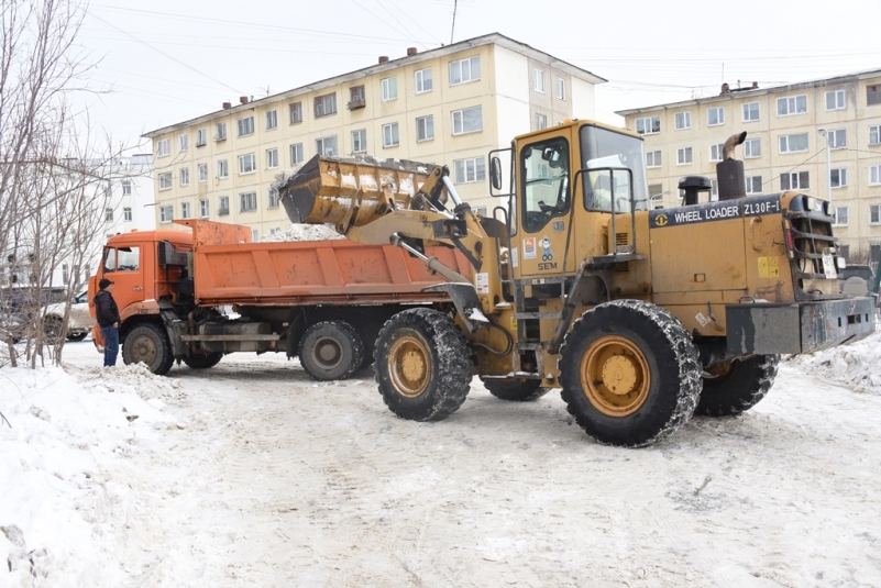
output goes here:
{"type": "Polygon", "coordinates": [[[779,355],[753,355],[711,367],[696,414],[734,417],[761,401],[777,377],[779,355]]]}

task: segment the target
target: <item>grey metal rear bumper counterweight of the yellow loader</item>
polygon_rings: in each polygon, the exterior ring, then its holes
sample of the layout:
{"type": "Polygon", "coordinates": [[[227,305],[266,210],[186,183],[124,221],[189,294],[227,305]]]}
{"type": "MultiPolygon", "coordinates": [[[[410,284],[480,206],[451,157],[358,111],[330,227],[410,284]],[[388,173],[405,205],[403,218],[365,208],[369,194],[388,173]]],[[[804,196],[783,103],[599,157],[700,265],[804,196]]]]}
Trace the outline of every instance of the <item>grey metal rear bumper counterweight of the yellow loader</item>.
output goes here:
{"type": "Polygon", "coordinates": [[[726,307],[729,356],[811,353],[874,332],[874,300],[846,298],[726,307]]]}

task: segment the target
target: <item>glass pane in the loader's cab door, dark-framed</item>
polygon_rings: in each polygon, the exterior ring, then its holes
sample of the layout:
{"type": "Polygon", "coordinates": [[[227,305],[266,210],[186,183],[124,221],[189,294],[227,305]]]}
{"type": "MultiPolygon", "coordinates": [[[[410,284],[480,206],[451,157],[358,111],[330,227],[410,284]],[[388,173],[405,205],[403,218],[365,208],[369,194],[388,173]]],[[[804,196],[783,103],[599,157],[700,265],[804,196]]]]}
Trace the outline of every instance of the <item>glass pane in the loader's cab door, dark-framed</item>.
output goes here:
{"type": "Polygon", "coordinates": [[[528,233],[569,212],[569,142],[562,137],[527,145],[520,152],[524,229],[528,233]]]}

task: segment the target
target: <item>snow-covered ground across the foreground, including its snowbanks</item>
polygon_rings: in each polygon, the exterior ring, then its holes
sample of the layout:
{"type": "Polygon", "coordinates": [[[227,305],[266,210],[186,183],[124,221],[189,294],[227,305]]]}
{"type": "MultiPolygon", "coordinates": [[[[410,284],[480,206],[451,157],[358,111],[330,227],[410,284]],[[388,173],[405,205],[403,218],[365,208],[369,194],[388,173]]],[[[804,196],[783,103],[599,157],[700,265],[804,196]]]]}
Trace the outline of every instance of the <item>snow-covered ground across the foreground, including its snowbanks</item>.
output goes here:
{"type": "Polygon", "coordinates": [[[645,450],[558,393],[385,409],[362,370],[0,369],[0,586],[881,586],[876,335],[645,450]]]}

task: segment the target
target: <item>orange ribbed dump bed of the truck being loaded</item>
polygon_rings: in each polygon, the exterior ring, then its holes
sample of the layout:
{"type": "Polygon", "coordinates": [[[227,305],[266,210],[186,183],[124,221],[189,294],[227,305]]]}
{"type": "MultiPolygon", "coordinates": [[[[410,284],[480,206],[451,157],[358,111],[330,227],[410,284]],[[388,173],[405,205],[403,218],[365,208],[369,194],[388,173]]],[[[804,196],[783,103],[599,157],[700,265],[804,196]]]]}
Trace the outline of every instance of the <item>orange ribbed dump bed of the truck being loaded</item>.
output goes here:
{"type": "MultiPolygon", "coordinates": [[[[194,278],[200,306],[363,306],[431,302],[423,292],[445,281],[425,262],[393,245],[348,240],[250,243],[236,225],[186,222],[194,230],[194,278]]],[[[467,260],[450,247],[428,247],[447,266],[467,273],[467,260]]]]}

